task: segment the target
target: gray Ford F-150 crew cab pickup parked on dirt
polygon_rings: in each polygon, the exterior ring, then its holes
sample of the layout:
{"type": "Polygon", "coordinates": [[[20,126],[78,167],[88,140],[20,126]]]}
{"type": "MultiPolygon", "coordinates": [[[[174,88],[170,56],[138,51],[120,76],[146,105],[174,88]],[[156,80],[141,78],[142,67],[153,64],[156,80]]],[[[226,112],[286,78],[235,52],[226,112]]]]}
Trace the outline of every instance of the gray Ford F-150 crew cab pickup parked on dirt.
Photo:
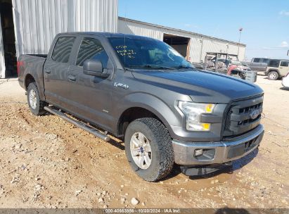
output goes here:
{"type": "Polygon", "coordinates": [[[34,115],[48,111],[101,139],[124,139],[131,168],[150,182],[174,163],[186,175],[229,165],[264,134],[262,89],[196,70],[156,39],[58,34],[47,56],[20,56],[18,74],[34,115]]]}

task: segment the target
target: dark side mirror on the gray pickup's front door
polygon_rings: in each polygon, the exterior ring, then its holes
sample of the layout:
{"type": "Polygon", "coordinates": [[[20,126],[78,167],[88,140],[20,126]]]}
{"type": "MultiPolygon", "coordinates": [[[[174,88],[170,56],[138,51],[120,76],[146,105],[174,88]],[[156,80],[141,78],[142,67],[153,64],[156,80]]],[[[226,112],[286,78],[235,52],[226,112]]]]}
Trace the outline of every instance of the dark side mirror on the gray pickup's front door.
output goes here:
{"type": "Polygon", "coordinates": [[[83,73],[96,77],[108,77],[110,75],[107,73],[106,69],[103,69],[103,63],[101,63],[101,61],[98,59],[89,59],[84,61],[83,73]]]}

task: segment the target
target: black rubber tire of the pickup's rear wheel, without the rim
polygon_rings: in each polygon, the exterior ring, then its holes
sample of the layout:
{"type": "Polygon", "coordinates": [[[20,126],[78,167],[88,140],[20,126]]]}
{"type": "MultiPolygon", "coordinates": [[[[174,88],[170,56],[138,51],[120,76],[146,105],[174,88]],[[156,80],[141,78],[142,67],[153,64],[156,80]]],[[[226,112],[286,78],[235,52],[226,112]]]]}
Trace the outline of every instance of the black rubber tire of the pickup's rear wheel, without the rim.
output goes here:
{"type": "Polygon", "coordinates": [[[44,115],[46,113],[46,111],[44,110],[44,106],[48,106],[48,103],[46,103],[45,101],[41,101],[38,88],[35,82],[31,82],[27,87],[27,103],[30,108],[30,111],[34,115],[44,115]],[[32,103],[30,103],[30,92],[32,90],[35,92],[36,98],[36,106],[34,106],[34,108],[32,107],[32,103]]]}

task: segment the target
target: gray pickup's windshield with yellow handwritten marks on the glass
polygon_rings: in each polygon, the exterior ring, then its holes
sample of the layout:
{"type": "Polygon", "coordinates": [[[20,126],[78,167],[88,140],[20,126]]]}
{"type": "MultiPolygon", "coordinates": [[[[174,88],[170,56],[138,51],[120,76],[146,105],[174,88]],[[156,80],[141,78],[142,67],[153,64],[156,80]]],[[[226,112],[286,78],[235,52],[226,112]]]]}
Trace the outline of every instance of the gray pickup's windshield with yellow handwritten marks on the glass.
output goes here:
{"type": "Polygon", "coordinates": [[[108,38],[125,68],[194,68],[171,46],[155,39],[108,38]]]}

